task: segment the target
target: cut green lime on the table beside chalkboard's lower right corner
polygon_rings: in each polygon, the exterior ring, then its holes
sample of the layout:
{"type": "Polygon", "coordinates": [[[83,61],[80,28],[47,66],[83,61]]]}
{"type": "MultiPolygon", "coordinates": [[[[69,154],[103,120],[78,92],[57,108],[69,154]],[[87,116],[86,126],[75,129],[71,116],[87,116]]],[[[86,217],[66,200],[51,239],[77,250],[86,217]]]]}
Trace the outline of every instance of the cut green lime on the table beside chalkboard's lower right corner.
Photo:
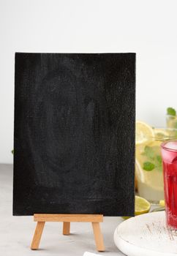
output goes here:
{"type": "MultiPolygon", "coordinates": [[[[135,195],[135,216],[140,214],[147,214],[150,208],[151,203],[149,203],[145,198],[135,195]]],[[[129,219],[131,217],[124,216],[122,218],[129,219]]]]}

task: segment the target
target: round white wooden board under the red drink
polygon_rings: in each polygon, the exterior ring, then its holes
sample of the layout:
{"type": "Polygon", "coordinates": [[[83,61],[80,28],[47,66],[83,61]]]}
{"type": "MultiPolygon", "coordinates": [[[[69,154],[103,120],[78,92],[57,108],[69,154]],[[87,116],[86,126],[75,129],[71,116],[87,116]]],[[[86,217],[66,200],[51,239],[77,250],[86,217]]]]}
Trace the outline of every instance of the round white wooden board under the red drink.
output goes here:
{"type": "Polygon", "coordinates": [[[177,236],[165,224],[165,211],[127,219],[115,230],[118,249],[128,256],[175,256],[177,236]]]}

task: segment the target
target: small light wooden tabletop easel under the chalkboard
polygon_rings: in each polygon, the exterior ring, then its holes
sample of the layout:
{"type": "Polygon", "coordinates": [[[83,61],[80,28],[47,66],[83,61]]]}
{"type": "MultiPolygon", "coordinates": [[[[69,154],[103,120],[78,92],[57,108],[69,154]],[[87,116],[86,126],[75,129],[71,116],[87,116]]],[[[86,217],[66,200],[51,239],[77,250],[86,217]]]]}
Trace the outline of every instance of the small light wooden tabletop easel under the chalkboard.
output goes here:
{"type": "Polygon", "coordinates": [[[101,214],[34,214],[34,222],[37,222],[37,227],[31,243],[31,249],[39,248],[45,222],[63,222],[64,235],[69,235],[70,233],[70,222],[91,222],[97,251],[105,251],[103,237],[99,227],[99,222],[103,222],[103,215],[101,214]]]}

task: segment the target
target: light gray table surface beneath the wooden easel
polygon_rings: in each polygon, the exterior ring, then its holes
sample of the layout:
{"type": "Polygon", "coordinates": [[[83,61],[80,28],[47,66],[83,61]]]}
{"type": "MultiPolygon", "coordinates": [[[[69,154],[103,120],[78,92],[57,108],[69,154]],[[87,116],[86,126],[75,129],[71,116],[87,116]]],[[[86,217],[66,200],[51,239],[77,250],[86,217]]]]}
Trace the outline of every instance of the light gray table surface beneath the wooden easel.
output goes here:
{"type": "Polygon", "coordinates": [[[40,249],[30,249],[36,223],[33,217],[12,216],[12,165],[0,165],[0,255],[47,256],[77,255],[93,252],[105,256],[124,255],[113,242],[113,233],[121,217],[104,217],[101,223],[105,252],[97,252],[91,223],[71,223],[71,235],[62,235],[61,222],[47,222],[40,249]]]}

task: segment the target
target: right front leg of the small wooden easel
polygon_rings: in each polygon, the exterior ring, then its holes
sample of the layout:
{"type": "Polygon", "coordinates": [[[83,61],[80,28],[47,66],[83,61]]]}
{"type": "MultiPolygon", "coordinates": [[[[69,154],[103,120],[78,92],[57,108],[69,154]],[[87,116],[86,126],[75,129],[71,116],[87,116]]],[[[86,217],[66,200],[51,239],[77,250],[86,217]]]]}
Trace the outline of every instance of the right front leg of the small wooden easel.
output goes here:
{"type": "Polygon", "coordinates": [[[102,233],[99,227],[99,222],[91,222],[93,230],[94,230],[94,240],[97,247],[97,251],[104,252],[105,246],[103,242],[102,233]]]}

